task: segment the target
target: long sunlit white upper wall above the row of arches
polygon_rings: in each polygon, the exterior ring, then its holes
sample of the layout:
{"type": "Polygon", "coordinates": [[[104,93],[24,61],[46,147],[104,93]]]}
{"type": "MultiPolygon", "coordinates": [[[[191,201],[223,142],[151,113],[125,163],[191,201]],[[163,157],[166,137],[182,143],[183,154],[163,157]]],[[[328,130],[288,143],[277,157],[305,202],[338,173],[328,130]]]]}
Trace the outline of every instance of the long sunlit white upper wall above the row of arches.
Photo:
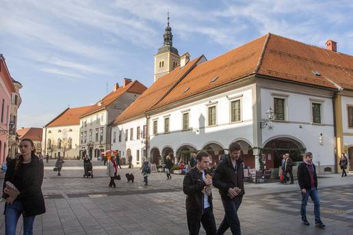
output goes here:
{"type": "Polygon", "coordinates": [[[194,146],[196,150],[201,150],[207,143],[219,143],[223,148],[236,139],[247,139],[252,146],[252,87],[248,85],[231,92],[224,92],[209,98],[204,98],[196,102],[191,102],[156,115],[151,115],[148,124],[148,133],[151,135],[150,148],[158,148],[161,154],[162,150],[169,146],[174,153],[181,146],[194,146]],[[241,122],[231,123],[230,104],[228,98],[241,99],[241,122]],[[207,108],[209,103],[216,105],[216,126],[207,126],[207,108]],[[189,128],[183,131],[183,111],[189,109],[189,128]],[[164,118],[170,115],[170,133],[164,133],[164,118]],[[153,135],[153,121],[158,120],[158,135],[153,135]]]}

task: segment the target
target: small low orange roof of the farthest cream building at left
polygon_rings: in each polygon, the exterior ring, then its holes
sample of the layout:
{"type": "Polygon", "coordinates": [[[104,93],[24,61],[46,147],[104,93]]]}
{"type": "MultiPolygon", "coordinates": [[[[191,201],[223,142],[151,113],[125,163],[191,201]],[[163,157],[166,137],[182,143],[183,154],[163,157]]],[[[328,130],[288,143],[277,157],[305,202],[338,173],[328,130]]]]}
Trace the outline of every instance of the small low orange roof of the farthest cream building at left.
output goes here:
{"type": "Polygon", "coordinates": [[[92,106],[67,108],[45,127],[79,125],[79,117],[89,109],[92,109],[92,106]]]}

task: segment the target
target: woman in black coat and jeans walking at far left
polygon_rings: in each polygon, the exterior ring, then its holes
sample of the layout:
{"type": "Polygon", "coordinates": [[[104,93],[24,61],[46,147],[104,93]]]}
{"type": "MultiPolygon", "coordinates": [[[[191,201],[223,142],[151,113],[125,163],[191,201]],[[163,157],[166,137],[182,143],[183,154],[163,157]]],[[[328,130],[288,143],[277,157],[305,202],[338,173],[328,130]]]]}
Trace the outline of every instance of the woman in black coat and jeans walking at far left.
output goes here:
{"type": "Polygon", "coordinates": [[[23,234],[33,234],[36,215],[45,213],[42,182],[43,162],[34,154],[36,149],[31,139],[19,144],[21,155],[11,161],[3,184],[5,204],[5,234],[15,235],[18,218],[23,215],[23,234]]]}

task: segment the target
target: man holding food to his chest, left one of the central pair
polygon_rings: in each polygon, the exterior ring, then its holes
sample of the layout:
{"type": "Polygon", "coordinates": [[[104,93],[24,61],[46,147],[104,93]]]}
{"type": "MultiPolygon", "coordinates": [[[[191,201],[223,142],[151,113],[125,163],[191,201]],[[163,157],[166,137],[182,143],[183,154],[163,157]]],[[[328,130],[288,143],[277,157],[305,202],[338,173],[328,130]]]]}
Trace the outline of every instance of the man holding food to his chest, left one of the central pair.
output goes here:
{"type": "Polygon", "coordinates": [[[215,217],[212,208],[212,180],[207,175],[209,154],[198,152],[196,166],[187,171],[183,180],[183,192],[186,194],[186,217],[189,235],[197,235],[200,223],[207,235],[214,235],[216,231],[215,217]]]}

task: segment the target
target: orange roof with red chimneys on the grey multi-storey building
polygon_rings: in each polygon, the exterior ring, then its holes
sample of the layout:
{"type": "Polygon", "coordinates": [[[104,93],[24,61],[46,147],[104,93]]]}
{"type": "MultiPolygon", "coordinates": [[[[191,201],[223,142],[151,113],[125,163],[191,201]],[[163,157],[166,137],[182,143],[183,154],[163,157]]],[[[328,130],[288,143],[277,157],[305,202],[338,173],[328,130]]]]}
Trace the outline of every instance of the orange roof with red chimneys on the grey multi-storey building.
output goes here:
{"type": "Polygon", "coordinates": [[[105,107],[109,106],[114,100],[125,94],[126,92],[131,92],[135,94],[142,94],[147,87],[145,87],[142,83],[139,81],[132,81],[131,83],[127,84],[125,87],[119,87],[116,89],[114,92],[110,92],[107,94],[107,96],[103,97],[99,102],[96,102],[95,105],[92,105],[91,108],[86,111],[86,113],[81,114],[80,118],[83,118],[86,115],[90,115],[92,113],[95,113],[96,111],[99,111],[101,109],[105,109],[105,107]],[[101,105],[99,106],[98,104],[101,102],[101,105]]]}

